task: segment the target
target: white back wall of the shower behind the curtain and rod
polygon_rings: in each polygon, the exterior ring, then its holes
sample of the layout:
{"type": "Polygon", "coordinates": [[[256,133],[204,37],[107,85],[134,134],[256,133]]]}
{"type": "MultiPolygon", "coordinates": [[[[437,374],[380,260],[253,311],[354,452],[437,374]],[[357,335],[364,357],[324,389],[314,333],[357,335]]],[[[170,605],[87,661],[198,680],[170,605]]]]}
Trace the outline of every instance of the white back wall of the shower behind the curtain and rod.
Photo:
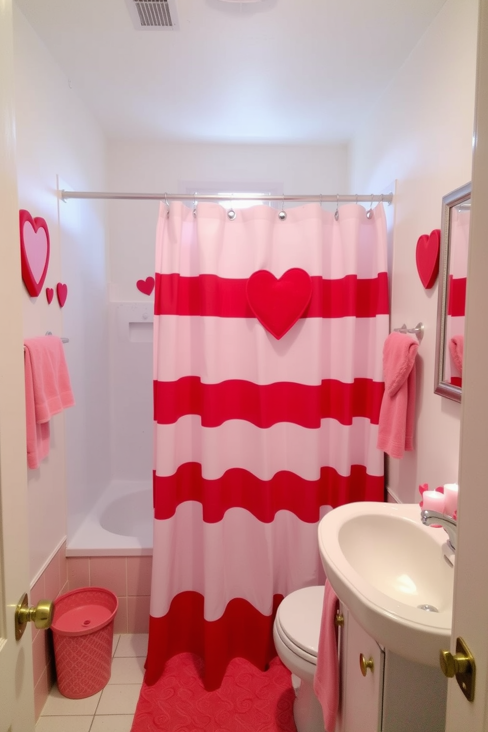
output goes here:
{"type": "MultiPolygon", "coordinates": [[[[184,183],[277,184],[283,193],[344,193],[348,189],[346,146],[239,146],[108,143],[109,190],[181,193],[184,183]]],[[[241,188],[242,190],[242,188],[241,188]]],[[[325,206],[325,204],[324,204],[325,206]]],[[[127,307],[152,298],[135,283],[154,273],[157,201],[117,201],[108,206],[111,305],[113,477],[150,479],[152,470],[152,348],[130,340],[127,307]],[[130,384],[130,389],[127,388],[130,384]]],[[[149,307],[149,312],[151,308],[149,307]]],[[[135,322],[142,320],[134,310],[135,322]]],[[[132,338],[151,337],[135,329],[132,338]]]]}

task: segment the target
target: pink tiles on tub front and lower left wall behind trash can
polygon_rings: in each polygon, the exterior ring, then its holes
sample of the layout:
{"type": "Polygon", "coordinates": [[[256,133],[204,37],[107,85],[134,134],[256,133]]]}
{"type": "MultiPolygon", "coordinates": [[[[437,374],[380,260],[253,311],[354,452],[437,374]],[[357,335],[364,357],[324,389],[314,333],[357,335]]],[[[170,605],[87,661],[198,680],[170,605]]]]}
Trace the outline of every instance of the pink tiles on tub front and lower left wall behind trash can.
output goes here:
{"type": "MultiPolygon", "coordinates": [[[[105,587],[119,598],[114,633],[146,633],[149,630],[151,556],[66,556],[63,544],[31,588],[31,605],[53,600],[78,587],[105,587]]],[[[34,708],[36,721],[56,681],[53,635],[32,624],[34,708]]]]}

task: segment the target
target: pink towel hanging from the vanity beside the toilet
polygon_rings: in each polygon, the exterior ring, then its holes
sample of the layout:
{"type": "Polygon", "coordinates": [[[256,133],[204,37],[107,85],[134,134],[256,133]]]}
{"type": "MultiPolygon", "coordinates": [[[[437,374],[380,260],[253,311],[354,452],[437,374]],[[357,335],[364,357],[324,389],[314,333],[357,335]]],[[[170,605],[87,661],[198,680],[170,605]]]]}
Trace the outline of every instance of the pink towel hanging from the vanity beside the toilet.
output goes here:
{"type": "Polygon", "coordinates": [[[337,627],[335,616],[339,608],[337,594],[326,580],[323,593],[322,619],[317,651],[317,668],[313,690],[320,701],[326,732],[334,732],[339,709],[339,658],[337,657],[337,627]]]}

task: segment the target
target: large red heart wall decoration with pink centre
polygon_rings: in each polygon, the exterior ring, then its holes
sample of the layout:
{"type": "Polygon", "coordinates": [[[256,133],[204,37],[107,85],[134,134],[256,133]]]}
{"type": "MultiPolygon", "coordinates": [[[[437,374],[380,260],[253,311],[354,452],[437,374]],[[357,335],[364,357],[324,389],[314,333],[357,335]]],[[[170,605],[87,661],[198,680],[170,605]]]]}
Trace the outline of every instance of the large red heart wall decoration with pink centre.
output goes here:
{"type": "Polygon", "coordinates": [[[40,216],[32,218],[26,209],[19,211],[19,225],[22,279],[29,295],[37,297],[48,272],[48,225],[40,216]]]}

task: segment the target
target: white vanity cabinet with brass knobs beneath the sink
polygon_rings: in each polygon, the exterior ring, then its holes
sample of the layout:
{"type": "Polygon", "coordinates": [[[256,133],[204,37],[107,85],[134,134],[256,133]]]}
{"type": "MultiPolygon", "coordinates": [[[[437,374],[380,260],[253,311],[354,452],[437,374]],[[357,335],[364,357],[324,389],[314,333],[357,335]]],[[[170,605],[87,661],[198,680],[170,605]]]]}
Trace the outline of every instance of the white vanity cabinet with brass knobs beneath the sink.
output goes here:
{"type": "Polygon", "coordinates": [[[444,732],[447,679],[440,667],[381,648],[342,603],[341,613],[336,732],[444,732]]]}

